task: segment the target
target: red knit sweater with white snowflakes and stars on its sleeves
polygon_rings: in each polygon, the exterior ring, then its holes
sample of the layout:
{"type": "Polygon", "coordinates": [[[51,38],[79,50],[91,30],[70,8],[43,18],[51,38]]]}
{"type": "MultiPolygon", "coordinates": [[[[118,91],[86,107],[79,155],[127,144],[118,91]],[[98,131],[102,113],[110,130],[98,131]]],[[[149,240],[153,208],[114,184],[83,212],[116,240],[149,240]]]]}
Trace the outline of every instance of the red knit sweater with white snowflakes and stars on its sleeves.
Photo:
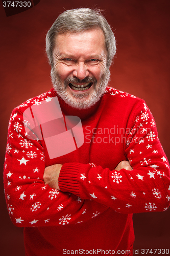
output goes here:
{"type": "Polygon", "coordinates": [[[43,139],[29,139],[23,112],[56,96],[52,89],[21,104],[9,123],[5,195],[12,222],[25,227],[26,255],[132,250],[132,214],[163,211],[170,203],[169,165],[154,118],[143,100],[109,87],[87,110],[58,97],[64,116],[81,118],[85,141],[50,159],[43,139]],[[133,170],[114,170],[127,159],[133,170]],[[43,182],[45,166],[56,163],[63,164],[61,191],[43,182]]]}

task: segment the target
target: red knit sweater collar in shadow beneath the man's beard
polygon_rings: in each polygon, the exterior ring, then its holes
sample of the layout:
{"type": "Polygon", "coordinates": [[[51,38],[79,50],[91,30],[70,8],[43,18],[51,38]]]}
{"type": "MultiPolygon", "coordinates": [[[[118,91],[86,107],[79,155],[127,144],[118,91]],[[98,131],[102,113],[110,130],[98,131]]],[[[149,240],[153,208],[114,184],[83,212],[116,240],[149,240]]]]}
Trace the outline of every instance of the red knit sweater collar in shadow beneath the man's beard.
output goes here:
{"type": "Polygon", "coordinates": [[[85,109],[85,110],[80,110],[80,109],[76,109],[76,108],[72,108],[72,106],[68,105],[56,92],[56,90],[53,88],[51,90],[52,94],[54,97],[58,97],[58,100],[59,100],[59,103],[60,103],[60,107],[61,107],[61,110],[63,112],[64,115],[66,116],[78,116],[80,117],[80,119],[86,119],[88,117],[90,117],[92,114],[94,114],[98,108],[99,108],[99,105],[101,103],[101,100],[102,100],[102,97],[101,99],[96,102],[94,105],[92,105],[90,108],[88,109],[85,109]]]}

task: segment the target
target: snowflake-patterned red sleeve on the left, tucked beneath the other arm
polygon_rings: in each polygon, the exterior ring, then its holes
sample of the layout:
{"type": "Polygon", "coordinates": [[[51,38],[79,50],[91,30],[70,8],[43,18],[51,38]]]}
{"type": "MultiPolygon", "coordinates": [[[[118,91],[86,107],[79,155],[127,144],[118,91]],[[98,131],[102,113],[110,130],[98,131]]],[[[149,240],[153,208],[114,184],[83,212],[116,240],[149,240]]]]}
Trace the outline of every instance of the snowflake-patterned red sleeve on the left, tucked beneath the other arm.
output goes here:
{"type": "MultiPolygon", "coordinates": [[[[86,221],[108,207],[45,185],[41,142],[29,140],[22,112],[11,115],[4,164],[4,187],[12,222],[19,227],[64,225],[86,221]]],[[[27,123],[25,123],[27,125],[27,123]]]]}

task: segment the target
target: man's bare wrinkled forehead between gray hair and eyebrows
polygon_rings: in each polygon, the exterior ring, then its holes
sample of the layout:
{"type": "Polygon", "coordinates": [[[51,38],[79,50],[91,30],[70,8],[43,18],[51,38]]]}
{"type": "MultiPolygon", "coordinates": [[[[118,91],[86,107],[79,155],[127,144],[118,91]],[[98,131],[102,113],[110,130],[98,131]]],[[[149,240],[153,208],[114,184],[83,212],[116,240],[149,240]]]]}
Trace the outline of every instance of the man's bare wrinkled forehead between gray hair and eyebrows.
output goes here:
{"type": "Polygon", "coordinates": [[[105,36],[101,29],[57,35],[55,48],[60,55],[105,55],[105,36]]]}

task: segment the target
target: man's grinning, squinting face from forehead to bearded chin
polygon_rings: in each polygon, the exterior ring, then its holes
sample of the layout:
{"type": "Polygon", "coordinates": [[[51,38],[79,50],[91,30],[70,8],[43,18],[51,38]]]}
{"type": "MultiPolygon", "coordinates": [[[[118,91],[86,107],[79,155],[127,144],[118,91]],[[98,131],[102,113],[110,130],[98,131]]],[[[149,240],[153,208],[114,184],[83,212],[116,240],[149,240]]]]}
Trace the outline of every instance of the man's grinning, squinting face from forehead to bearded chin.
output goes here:
{"type": "Polygon", "coordinates": [[[86,109],[100,99],[110,78],[101,29],[59,34],[53,58],[52,81],[64,101],[86,109]]]}

